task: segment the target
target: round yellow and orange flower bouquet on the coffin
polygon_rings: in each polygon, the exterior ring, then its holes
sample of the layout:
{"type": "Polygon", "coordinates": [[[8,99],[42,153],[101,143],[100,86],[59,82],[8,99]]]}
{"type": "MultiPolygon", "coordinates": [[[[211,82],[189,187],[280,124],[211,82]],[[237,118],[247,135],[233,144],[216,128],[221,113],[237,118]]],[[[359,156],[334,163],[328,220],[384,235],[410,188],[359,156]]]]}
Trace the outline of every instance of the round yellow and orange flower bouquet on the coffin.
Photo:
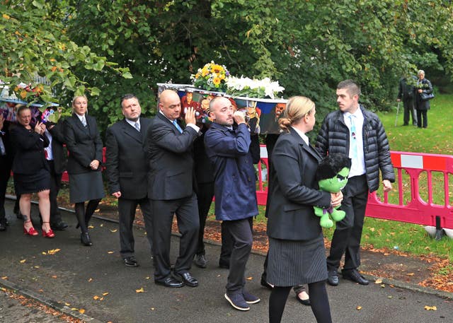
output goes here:
{"type": "Polygon", "coordinates": [[[192,74],[190,79],[197,88],[225,92],[228,76],[229,71],[224,65],[215,64],[214,61],[211,61],[205,64],[202,69],[198,69],[197,74],[192,74]]]}

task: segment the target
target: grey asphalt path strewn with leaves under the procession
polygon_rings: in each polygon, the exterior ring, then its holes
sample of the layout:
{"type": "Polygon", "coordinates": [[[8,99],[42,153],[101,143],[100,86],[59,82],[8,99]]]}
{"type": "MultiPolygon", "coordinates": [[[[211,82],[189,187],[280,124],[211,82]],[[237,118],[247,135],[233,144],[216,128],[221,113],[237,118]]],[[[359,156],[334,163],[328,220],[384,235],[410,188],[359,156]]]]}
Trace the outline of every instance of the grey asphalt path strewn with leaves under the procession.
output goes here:
{"type": "MultiPolygon", "coordinates": [[[[251,305],[248,312],[240,312],[224,299],[228,271],[217,266],[218,245],[207,244],[207,269],[193,266],[191,270],[200,286],[165,288],[154,284],[151,254],[143,229],[134,232],[140,266],[130,268],[120,258],[117,223],[93,218],[90,233],[93,246],[84,247],[80,243],[80,231],[75,228],[74,213],[64,211],[62,216],[69,228],[57,231],[54,239],[47,239],[23,235],[22,222],[12,216],[12,208],[13,201],[7,201],[10,225],[6,232],[0,233],[0,287],[15,290],[85,322],[268,322],[270,291],[260,286],[263,255],[251,254],[246,272],[246,288],[258,295],[261,302],[251,305]]],[[[38,223],[36,206],[32,214],[38,223]]],[[[177,236],[172,239],[171,251],[171,259],[176,259],[177,236]]],[[[401,257],[396,261],[404,264],[406,259],[401,257]]],[[[337,323],[453,321],[453,296],[445,298],[450,295],[402,281],[384,280],[379,284],[372,281],[369,286],[359,286],[340,278],[339,286],[328,286],[328,296],[333,322],[337,323]],[[426,310],[425,306],[432,310],[426,310]]],[[[0,322],[62,320],[22,306],[2,292],[0,322]]],[[[282,322],[316,321],[311,308],[299,304],[291,293],[282,322]]]]}

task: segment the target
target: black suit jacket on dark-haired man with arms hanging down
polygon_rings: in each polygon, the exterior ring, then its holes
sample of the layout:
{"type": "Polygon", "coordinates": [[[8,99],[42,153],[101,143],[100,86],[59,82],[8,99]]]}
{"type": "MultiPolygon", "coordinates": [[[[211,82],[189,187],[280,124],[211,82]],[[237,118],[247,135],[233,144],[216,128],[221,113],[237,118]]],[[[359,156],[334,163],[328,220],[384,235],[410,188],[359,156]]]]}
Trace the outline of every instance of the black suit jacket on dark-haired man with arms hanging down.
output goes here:
{"type": "Polygon", "coordinates": [[[140,132],[125,119],[107,129],[105,166],[110,194],[121,192],[125,199],[147,196],[148,163],[144,139],[151,119],[140,118],[140,132]]]}

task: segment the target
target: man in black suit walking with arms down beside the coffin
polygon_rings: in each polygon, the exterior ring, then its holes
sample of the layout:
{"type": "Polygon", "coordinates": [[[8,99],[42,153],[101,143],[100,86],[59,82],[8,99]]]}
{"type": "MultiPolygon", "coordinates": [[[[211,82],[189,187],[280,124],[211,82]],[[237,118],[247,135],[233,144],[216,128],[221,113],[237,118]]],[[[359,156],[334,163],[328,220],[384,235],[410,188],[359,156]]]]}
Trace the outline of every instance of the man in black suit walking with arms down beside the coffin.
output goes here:
{"type": "Polygon", "coordinates": [[[146,180],[148,165],[144,152],[144,139],[151,119],[140,117],[142,107],[133,94],[123,96],[120,104],[125,119],[107,129],[105,165],[110,194],[118,199],[121,257],[126,266],[136,267],[132,227],[137,205],[142,209],[152,255],[151,205],[146,180]]]}

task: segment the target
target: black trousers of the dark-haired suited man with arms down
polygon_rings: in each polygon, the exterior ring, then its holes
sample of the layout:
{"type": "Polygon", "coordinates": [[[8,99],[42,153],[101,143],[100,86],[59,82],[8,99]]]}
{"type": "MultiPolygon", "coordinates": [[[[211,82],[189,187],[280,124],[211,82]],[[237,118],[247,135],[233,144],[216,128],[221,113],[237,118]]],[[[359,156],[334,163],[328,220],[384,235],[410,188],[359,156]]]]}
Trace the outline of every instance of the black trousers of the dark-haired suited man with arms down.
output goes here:
{"type": "Polygon", "coordinates": [[[134,219],[135,210],[140,206],[143,213],[144,227],[147,230],[147,238],[149,247],[151,248],[151,256],[153,254],[153,223],[151,213],[151,202],[147,197],[143,199],[118,199],[118,213],[120,214],[120,254],[121,257],[130,257],[134,255],[134,219]]]}

